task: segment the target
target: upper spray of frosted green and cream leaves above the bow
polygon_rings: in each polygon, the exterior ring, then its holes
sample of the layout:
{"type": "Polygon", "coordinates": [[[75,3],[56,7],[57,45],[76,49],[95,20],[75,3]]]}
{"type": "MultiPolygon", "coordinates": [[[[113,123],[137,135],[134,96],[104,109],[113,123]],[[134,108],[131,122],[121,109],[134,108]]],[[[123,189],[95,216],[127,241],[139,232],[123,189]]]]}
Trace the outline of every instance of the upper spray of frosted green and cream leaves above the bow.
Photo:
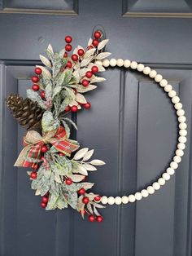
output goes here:
{"type": "MultiPolygon", "coordinates": [[[[89,39],[88,46],[91,45],[92,39],[89,39]]],[[[55,117],[59,117],[60,113],[63,113],[64,109],[69,105],[76,105],[81,109],[81,104],[85,104],[87,101],[85,96],[82,95],[89,90],[97,88],[94,84],[97,82],[105,81],[103,77],[97,77],[93,75],[89,80],[89,86],[82,86],[81,80],[85,77],[85,73],[90,71],[95,65],[98,67],[98,72],[105,71],[102,65],[98,64],[98,60],[103,60],[107,56],[111,55],[109,52],[101,52],[107,45],[108,39],[99,42],[97,48],[86,50],[82,46],[77,46],[73,54],[77,54],[79,49],[85,51],[85,55],[79,56],[79,60],[73,62],[70,57],[64,58],[65,49],[56,53],[53,51],[52,46],[48,46],[46,53],[48,58],[40,55],[42,64],[37,65],[41,68],[42,73],[38,85],[41,90],[45,90],[45,100],[41,99],[37,91],[31,89],[27,90],[27,96],[29,99],[36,101],[39,106],[45,110],[51,110],[55,117]],[[68,60],[72,61],[72,68],[65,68],[68,60]],[[76,89],[76,93],[74,90],[76,89]]]]}

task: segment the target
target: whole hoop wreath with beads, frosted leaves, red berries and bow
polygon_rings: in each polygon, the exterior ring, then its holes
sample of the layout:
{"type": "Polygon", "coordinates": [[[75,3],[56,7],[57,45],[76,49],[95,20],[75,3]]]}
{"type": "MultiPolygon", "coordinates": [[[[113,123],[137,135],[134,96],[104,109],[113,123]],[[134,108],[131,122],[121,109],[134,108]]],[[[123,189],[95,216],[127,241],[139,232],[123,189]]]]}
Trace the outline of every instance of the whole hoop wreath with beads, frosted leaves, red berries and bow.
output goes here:
{"type": "Polygon", "coordinates": [[[155,70],[137,64],[136,61],[107,60],[110,53],[104,52],[104,48],[108,39],[103,40],[103,34],[99,31],[94,33],[94,39],[89,39],[85,49],[77,46],[71,56],[68,52],[72,51],[72,37],[67,36],[65,42],[66,46],[59,53],[55,53],[49,45],[46,50],[48,58],[40,55],[44,65],[36,66],[36,75],[32,77],[33,86],[27,90],[26,99],[20,95],[7,96],[7,106],[13,116],[21,126],[27,128],[24,148],[15,161],[15,166],[33,169],[27,173],[32,180],[32,189],[36,190],[35,194],[41,196],[42,208],[62,210],[70,205],[81,213],[82,218],[87,214],[90,222],[96,220],[100,223],[103,216],[98,208],[104,208],[103,205],[106,204],[120,205],[140,201],[159,190],[175,173],[185,149],[185,111],[176,91],[155,70]],[[94,149],[79,149],[79,143],[70,139],[70,130],[77,127],[69,118],[69,113],[76,113],[81,108],[91,108],[83,94],[96,89],[95,83],[105,80],[98,77],[99,72],[116,65],[142,72],[164,88],[177,111],[179,143],[173,160],[155,183],[129,196],[107,197],[87,192],[94,183],[85,182],[86,176],[89,171],[97,170],[96,166],[103,166],[105,162],[91,160],[94,149]]]}

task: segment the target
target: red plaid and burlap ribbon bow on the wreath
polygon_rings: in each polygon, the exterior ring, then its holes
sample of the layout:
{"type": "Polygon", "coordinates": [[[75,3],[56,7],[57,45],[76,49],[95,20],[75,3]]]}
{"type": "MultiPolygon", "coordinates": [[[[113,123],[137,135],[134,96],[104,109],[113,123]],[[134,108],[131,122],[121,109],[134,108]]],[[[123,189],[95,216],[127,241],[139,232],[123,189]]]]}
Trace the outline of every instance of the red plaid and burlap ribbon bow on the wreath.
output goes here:
{"type": "Polygon", "coordinates": [[[42,136],[35,130],[29,130],[24,136],[24,148],[14,166],[32,167],[34,162],[41,157],[41,146],[46,143],[51,143],[59,152],[67,156],[79,148],[75,140],[66,138],[66,131],[62,126],[42,136]]]}

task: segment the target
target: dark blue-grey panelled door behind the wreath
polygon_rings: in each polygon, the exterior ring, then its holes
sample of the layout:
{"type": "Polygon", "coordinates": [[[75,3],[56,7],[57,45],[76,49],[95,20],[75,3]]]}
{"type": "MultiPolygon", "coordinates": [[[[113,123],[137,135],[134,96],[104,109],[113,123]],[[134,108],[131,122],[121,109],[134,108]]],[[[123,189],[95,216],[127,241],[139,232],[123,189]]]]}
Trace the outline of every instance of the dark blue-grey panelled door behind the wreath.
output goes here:
{"type": "MultiPolygon", "coordinates": [[[[0,255],[190,256],[192,2],[160,0],[0,1],[0,255]],[[13,167],[24,130],[4,105],[24,95],[38,54],[55,50],[71,34],[85,45],[103,26],[115,58],[156,68],[179,93],[188,118],[188,143],[177,174],[143,201],[112,205],[103,223],[83,221],[74,210],[45,211],[25,169],[13,167]]],[[[107,162],[89,176],[94,192],[117,196],[153,182],[173,156],[177,117],[155,82],[137,72],[109,68],[107,82],[89,93],[93,108],[78,113],[77,139],[107,162]]],[[[75,117],[74,117],[75,118],[75,117]]]]}

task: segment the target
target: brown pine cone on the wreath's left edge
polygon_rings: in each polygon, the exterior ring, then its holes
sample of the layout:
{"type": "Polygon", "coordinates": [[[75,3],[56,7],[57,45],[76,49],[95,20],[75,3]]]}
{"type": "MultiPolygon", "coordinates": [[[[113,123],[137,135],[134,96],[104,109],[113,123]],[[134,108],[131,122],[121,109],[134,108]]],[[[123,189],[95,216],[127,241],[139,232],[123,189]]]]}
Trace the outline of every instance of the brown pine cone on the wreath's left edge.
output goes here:
{"type": "Polygon", "coordinates": [[[15,119],[20,123],[20,126],[30,128],[41,127],[41,118],[44,112],[38,107],[37,103],[31,99],[23,99],[20,95],[9,95],[6,99],[7,107],[15,119]]]}

